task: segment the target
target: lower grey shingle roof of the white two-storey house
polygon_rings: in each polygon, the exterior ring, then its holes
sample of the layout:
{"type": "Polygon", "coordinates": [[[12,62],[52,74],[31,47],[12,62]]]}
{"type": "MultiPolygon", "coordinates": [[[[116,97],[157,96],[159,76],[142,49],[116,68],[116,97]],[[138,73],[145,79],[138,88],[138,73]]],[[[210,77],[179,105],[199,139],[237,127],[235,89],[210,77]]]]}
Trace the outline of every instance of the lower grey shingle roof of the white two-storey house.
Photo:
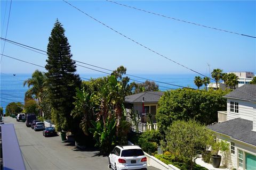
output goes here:
{"type": "Polygon", "coordinates": [[[235,118],[226,122],[209,125],[207,128],[256,146],[256,132],[252,131],[252,123],[252,121],[243,118],[235,118]]]}

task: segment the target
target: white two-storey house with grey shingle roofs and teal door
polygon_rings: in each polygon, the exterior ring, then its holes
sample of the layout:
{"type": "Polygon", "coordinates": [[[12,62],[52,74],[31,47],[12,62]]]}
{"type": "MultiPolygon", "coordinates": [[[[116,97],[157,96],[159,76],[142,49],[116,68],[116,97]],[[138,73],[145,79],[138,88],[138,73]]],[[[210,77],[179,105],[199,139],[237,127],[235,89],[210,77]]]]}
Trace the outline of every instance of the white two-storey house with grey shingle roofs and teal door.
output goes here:
{"type": "MultiPolygon", "coordinates": [[[[256,85],[244,84],[224,96],[227,111],[218,113],[218,123],[207,126],[216,137],[230,143],[229,166],[256,169],[256,85]]],[[[222,161],[222,164],[225,161],[222,161]]]]}

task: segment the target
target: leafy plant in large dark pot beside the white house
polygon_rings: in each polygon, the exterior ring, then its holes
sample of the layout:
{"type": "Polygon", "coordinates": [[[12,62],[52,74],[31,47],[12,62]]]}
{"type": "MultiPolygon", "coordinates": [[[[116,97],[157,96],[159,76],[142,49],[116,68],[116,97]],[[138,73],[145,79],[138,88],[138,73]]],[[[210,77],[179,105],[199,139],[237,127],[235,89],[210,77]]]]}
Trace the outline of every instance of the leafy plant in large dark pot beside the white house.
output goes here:
{"type": "Polygon", "coordinates": [[[220,152],[226,152],[229,150],[229,143],[223,140],[217,140],[216,142],[213,143],[212,145],[212,166],[214,168],[219,168],[220,167],[220,162],[221,162],[221,156],[218,155],[219,151],[220,152]]]}

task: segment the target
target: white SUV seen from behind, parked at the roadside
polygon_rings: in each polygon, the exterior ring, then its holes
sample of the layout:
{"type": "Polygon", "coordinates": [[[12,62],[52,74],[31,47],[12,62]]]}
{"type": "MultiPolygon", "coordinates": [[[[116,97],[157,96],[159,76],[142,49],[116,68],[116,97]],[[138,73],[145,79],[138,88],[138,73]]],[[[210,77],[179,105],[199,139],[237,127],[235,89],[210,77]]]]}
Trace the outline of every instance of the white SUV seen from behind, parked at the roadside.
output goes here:
{"type": "Polygon", "coordinates": [[[111,168],[147,169],[147,157],[143,150],[135,145],[116,146],[108,156],[111,168]]]}

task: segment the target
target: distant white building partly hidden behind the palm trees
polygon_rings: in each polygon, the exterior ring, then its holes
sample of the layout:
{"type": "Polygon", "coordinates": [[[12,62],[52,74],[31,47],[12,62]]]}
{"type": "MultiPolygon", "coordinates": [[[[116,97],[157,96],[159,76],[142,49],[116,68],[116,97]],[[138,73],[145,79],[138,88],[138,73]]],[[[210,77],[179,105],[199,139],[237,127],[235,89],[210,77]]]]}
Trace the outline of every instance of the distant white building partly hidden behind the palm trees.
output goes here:
{"type": "MultiPolygon", "coordinates": [[[[249,84],[250,81],[252,81],[252,79],[254,78],[254,74],[253,72],[228,72],[229,73],[234,73],[237,75],[238,77],[238,87],[243,86],[244,84],[249,84]]],[[[236,88],[238,88],[236,87],[236,88]]],[[[210,84],[207,85],[207,89],[209,88],[213,88],[214,90],[217,89],[216,87],[216,82],[212,82],[210,84]]],[[[218,83],[218,88],[225,90],[226,86],[224,84],[224,81],[222,81],[221,83],[218,83]]]]}

